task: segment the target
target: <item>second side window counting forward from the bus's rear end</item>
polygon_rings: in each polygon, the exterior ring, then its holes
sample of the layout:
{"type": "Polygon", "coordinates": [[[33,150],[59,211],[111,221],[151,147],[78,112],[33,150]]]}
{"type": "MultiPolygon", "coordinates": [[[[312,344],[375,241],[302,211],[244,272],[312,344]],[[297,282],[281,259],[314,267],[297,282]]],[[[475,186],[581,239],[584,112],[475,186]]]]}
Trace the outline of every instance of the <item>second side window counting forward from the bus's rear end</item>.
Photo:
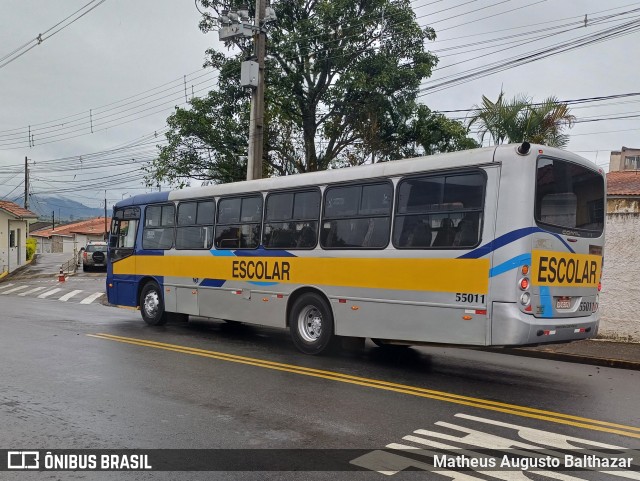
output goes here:
{"type": "Polygon", "coordinates": [[[389,243],[389,182],[328,187],[320,243],[325,249],[383,249],[389,243]]]}

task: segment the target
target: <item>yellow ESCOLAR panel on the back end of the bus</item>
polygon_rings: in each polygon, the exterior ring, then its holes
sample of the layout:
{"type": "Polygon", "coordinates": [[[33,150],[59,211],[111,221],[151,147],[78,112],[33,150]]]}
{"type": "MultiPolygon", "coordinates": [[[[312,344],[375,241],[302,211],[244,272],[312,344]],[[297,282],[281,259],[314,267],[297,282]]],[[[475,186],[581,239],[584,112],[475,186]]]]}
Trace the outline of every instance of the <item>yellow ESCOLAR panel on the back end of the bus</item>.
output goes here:
{"type": "Polygon", "coordinates": [[[602,256],[534,250],[531,281],[537,286],[598,287],[602,256]]]}

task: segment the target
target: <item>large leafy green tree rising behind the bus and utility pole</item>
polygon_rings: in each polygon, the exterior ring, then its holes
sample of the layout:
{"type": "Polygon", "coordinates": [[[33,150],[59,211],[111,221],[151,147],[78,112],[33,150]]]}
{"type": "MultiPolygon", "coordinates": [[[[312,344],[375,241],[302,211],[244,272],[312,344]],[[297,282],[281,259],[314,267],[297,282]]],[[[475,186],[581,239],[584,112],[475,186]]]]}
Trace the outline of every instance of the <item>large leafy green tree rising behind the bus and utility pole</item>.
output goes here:
{"type": "MultiPolygon", "coordinates": [[[[225,2],[197,3],[205,9],[200,28],[211,32],[225,2]]],[[[393,160],[419,146],[435,153],[477,145],[462,124],[416,102],[437,58],[424,47],[435,33],[418,25],[410,0],[288,0],[276,8],[265,70],[265,175],[393,160]]],[[[250,95],[239,67],[250,46],[227,44],[231,57],[207,51],[218,87],[169,117],[169,143],[148,166],[150,184],[244,178],[250,95]]]]}

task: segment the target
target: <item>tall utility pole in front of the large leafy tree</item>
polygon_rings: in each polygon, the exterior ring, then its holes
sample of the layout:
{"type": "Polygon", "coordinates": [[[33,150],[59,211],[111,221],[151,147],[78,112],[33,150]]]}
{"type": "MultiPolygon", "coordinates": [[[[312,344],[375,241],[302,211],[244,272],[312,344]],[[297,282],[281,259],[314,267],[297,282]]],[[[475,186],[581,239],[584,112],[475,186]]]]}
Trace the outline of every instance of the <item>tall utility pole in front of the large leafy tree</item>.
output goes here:
{"type": "Polygon", "coordinates": [[[253,48],[258,62],[258,86],[251,91],[247,180],[262,178],[262,156],[264,153],[264,56],[267,43],[267,34],[262,26],[265,10],[266,0],[256,0],[255,26],[257,28],[253,34],[253,48]]]}

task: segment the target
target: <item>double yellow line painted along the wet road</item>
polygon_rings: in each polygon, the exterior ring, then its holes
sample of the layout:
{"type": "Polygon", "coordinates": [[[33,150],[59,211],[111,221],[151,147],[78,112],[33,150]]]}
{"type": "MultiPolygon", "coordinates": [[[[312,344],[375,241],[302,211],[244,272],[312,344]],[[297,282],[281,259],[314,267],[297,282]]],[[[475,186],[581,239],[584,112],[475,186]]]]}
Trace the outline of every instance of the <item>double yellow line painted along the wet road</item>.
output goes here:
{"type": "Polygon", "coordinates": [[[447,393],[444,391],[435,391],[432,389],[425,389],[418,386],[397,384],[397,383],[382,381],[378,379],[369,379],[369,378],[360,377],[360,376],[342,374],[339,372],[324,371],[321,369],[296,366],[293,364],[284,364],[284,363],[279,363],[274,361],[267,361],[264,359],[238,356],[235,354],[209,351],[209,350],[198,349],[198,348],[193,348],[188,346],[180,346],[177,344],[166,344],[162,342],[149,341],[146,339],[122,337],[122,336],[115,336],[112,334],[104,334],[104,333],[88,334],[88,336],[95,337],[98,339],[122,342],[126,344],[133,344],[137,346],[162,349],[165,351],[179,352],[183,354],[191,354],[194,356],[219,359],[222,361],[235,362],[239,364],[246,364],[250,366],[262,367],[262,368],[272,369],[276,371],[290,372],[293,374],[328,379],[331,381],[344,382],[348,384],[356,384],[359,386],[382,389],[385,391],[393,391],[393,392],[398,392],[402,394],[408,394],[411,396],[435,399],[438,401],[461,404],[464,406],[470,406],[470,407],[485,409],[489,411],[497,411],[497,412],[502,412],[506,414],[513,414],[515,416],[538,419],[538,420],[553,422],[557,424],[565,424],[569,426],[590,429],[593,431],[602,431],[602,432],[619,434],[621,436],[640,439],[640,427],[627,426],[624,424],[616,424],[608,421],[600,421],[597,419],[589,419],[589,418],[584,418],[580,416],[574,416],[571,414],[563,414],[563,413],[558,413],[554,411],[545,411],[543,409],[530,408],[527,406],[518,406],[516,404],[507,404],[507,403],[501,403],[498,401],[491,401],[487,399],[480,399],[480,398],[474,398],[469,396],[462,396],[459,394],[447,393]]]}

